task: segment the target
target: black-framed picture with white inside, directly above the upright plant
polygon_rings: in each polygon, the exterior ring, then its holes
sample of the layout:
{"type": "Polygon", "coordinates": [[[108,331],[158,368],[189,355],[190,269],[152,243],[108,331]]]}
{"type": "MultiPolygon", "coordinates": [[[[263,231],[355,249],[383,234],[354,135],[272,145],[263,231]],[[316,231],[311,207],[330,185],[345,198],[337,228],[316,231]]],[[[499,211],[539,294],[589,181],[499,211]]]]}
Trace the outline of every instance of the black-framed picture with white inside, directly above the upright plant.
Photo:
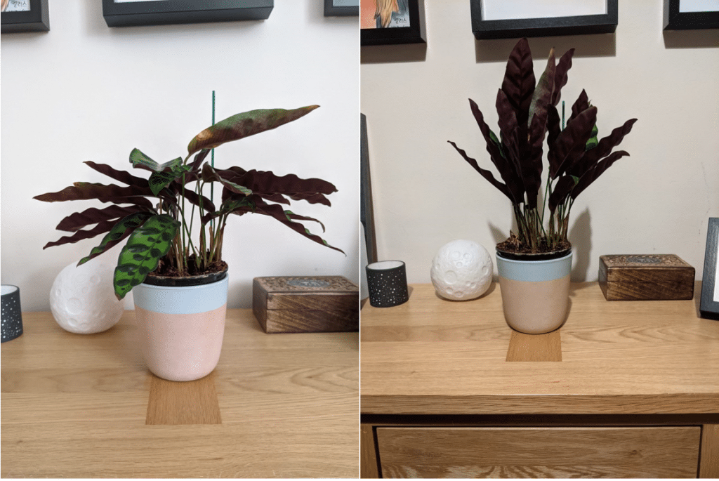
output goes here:
{"type": "Polygon", "coordinates": [[[617,0],[470,0],[477,39],[613,33],[617,0]]]}

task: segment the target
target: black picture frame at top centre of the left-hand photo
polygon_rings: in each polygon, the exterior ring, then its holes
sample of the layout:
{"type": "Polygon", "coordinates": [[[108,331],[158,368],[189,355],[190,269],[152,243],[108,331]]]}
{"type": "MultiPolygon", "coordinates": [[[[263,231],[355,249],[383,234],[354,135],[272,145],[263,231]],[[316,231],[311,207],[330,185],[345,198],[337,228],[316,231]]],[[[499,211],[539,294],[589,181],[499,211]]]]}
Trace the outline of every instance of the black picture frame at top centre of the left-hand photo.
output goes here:
{"type": "Polygon", "coordinates": [[[265,20],[274,0],[102,0],[108,27],[265,20]]]}

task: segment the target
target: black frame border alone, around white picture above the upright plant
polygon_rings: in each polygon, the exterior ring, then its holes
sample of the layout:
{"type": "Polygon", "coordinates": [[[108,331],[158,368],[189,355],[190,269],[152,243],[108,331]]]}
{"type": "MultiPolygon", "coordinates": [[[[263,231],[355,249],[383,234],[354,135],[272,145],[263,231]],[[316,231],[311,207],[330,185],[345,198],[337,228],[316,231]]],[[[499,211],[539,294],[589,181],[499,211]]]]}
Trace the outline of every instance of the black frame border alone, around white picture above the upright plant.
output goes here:
{"type": "Polygon", "coordinates": [[[483,0],[470,1],[472,33],[478,40],[614,33],[618,24],[617,0],[606,0],[604,14],[506,20],[482,19],[483,0]]]}

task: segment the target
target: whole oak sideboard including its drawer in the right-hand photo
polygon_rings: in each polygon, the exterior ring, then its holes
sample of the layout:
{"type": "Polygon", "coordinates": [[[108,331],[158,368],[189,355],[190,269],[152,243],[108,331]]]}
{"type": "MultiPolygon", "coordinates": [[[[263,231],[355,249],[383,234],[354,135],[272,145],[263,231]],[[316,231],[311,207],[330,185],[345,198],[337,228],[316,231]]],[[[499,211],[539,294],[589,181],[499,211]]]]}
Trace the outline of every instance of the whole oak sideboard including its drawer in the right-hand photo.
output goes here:
{"type": "Polygon", "coordinates": [[[573,284],[538,336],[509,328],[496,283],[365,304],[362,477],[719,477],[719,321],[698,304],[573,284]]]}

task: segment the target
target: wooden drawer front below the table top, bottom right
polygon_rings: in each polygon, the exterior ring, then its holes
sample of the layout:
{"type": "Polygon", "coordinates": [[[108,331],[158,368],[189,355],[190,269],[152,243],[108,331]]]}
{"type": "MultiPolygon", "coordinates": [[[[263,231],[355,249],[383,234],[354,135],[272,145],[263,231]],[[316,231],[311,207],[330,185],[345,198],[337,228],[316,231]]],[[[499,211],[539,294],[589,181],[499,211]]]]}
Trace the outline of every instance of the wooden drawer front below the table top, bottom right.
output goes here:
{"type": "Polygon", "coordinates": [[[697,477],[700,426],[378,427],[382,477],[697,477]]]}

